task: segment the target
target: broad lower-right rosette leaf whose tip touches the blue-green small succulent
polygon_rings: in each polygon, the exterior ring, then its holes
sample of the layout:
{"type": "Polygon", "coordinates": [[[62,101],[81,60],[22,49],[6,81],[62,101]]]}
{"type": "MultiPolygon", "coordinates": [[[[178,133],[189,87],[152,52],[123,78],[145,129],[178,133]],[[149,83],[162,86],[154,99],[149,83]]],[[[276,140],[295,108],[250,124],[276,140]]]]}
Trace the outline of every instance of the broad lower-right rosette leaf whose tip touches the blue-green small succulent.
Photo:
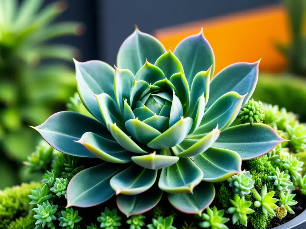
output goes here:
{"type": "Polygon", "coordinates": [[[207,182],[221,182],[241,171],[241,158],[231,150],[210,147],[192,159],[207,182]]]}

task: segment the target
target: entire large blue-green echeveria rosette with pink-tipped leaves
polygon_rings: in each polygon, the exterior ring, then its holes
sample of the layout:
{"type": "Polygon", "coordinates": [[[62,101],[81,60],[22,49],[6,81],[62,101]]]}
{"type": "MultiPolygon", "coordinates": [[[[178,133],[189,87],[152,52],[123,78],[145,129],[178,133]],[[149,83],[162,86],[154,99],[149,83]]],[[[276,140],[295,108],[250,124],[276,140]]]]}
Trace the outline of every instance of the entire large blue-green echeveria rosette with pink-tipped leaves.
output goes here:
{"type": "Polygon", "coordinates": [[[117,194],[125,215],[139,215],[165,191],[176,209],[200,215],[215,196],[212,182],[284,141],[264,124],[229,127],[252,96],[259,62],[232,64],[211,80],[214,54],[202,32],[171,52],[136,29],[117,67],[75,64],[80,99],[95,119],[64,111],[35,127],[63,153],[105,161],[72,178],[67,206],[90,207],[117,194]]]}

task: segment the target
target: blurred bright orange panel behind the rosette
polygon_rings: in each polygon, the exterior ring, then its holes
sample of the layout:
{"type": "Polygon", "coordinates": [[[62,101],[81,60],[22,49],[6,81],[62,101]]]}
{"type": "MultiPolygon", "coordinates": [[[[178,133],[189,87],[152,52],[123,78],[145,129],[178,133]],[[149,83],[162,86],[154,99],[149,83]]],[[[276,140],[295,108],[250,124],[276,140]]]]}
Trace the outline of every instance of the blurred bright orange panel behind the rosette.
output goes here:
{"type": "Polygon", "coordinates": [[[285,9],[272,6],[198,21],[155,31],[166,49],[174,47],[186,36],[199,33],[210,42],[216,58],[215,73],[235,62],[255,62],[262,58],[260,70],[277,72],[286,60],[275,49],[275,42],[289,43],[285,9]]]}

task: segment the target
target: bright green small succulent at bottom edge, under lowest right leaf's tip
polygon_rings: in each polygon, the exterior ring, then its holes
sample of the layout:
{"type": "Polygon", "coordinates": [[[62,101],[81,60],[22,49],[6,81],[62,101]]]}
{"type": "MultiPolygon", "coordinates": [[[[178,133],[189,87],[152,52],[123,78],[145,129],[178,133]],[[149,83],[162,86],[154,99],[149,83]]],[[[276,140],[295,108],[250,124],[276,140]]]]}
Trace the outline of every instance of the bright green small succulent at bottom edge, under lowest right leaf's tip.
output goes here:
{"type": "Polygon", "coordinates": [[[206,212],[207,214],[202,213],[202,219],[205,221],[199,224],[200,227],[211,227],[211,229],[228,229],[225,223],[230,219],[223,217],[225,210],[222,209],[218,211],[217,207],[214,206],[212,210],[207,208],[206,212]]]}

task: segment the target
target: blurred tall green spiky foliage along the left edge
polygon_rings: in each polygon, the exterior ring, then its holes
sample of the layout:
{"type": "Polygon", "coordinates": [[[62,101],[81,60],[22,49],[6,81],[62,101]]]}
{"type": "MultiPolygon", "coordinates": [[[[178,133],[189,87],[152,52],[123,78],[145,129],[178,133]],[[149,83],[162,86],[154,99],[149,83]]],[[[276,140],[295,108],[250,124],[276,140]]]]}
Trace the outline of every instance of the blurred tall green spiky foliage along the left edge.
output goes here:
{"type": "Polygon", "coordinates": [[[64,1],[45,7],[44,0],[18,2],[0,1],[0,160],[15,167],[5,173],[14,179],[5,179],[0,189],[20,182],[16,165],[34,151],[38,136],[28,125],[64,109],[74,92],[74,72],[63,60],[72,61],[77,49],[47,41],[82,31],[76,22],[53,23],[65,10],[64,1]]]}

